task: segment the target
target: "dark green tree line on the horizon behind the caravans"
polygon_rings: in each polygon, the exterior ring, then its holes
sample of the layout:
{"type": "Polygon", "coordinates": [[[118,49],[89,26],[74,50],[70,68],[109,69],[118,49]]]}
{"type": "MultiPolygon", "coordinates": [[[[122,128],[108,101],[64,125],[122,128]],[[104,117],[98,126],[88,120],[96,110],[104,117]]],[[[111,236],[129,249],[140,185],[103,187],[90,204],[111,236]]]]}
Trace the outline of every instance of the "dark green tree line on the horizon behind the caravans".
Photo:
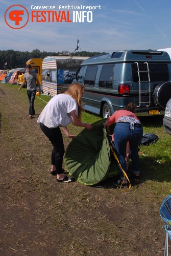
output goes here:
{"type": "MultiPolygon", "coordinates": [[[[38,49],[34,49],[32,52],[21,52],[14,50],[0,51],[0,70],[4,69],[16,69],[25,68],[26,62],[31,58],[45,58],[46,56],[58,56],[61,53],[69,53],[68,51],[62,52],[41,52],[38,49]]],[[[105,53],[105,52],[102,52],[105,53]]],[[[72,56],[94,56],[102,54],[100,52],[72,52],[72,56]]]]}

